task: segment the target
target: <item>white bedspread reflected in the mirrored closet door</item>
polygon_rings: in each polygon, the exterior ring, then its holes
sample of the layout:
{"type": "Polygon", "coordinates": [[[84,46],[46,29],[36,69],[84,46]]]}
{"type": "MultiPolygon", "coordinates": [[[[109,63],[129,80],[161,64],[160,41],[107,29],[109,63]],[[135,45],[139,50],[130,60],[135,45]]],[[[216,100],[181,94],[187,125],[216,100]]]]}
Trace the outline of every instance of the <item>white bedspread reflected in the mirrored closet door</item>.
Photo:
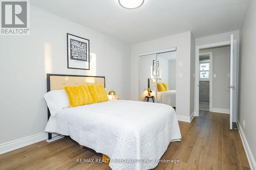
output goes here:
{"type": "Polygon", "coordinates": [[[176,107],[176,90],[158,91],[157,102],[176,107]]]}

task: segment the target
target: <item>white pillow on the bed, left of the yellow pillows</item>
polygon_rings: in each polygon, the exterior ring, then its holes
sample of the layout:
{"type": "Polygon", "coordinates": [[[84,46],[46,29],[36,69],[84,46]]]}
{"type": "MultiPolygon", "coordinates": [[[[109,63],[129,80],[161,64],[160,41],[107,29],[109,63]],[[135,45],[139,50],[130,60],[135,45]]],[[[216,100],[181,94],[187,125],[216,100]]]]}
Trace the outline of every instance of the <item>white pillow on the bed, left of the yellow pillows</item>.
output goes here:
{"type": "Polygon", "coordinates": [[[51,116],[55,116],[58,111],[69,107],[69,99],[65,90],[52,90],[44,95],[51,116]]]}

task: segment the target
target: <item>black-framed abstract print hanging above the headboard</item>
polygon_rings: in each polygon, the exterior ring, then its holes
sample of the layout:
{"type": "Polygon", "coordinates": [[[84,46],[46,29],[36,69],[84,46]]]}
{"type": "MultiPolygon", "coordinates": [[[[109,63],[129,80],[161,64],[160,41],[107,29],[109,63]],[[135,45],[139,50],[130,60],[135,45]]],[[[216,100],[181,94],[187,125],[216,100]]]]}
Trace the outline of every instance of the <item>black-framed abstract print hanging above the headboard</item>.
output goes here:
{"type": "Polygon", "coordinates": [[[68,68],[90,70],[90,40],[67,33],[67,60],[68,68]],[[85,44],[85,54],[75,59],[72,56],[71,41],[76,41],[79,45],[85,44]]]}

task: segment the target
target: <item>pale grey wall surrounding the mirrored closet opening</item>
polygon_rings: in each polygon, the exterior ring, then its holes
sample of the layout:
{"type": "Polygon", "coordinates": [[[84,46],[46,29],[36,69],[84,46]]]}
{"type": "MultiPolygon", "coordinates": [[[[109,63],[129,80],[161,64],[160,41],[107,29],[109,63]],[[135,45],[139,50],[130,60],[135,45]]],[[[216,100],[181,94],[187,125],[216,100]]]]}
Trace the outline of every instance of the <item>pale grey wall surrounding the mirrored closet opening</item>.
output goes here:
{"type": "MultiPolygon", "coordinates": [[[[146,41],[132,45],[131,54],[131,98],[139,100],[139,54],[177,47],[176,113],[190,115],[190,43],[191,33],[146,41]],[[179,66],[181,64],[181,66],[179,66]],[[182,77],[180,75],[182,74],[182,77]]],[[[194,93],[194,90],[193,90],[194,93]]],[[[194,105],[194,103],[193,103],[194,105]]],[[[194,106],[193,106],[194,107],[194,106]]]]}

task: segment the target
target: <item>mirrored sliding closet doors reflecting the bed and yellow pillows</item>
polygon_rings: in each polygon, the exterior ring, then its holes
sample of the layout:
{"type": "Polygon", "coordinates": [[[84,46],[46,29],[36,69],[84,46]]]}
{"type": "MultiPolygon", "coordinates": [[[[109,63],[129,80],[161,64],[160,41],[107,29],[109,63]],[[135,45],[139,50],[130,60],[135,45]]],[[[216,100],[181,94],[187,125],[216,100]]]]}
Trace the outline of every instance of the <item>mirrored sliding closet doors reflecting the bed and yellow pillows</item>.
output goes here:
{"type": "Polygon", "coordinates": [[[141,54],[139,99],[176,107],[176,48],[141,54]]]}

